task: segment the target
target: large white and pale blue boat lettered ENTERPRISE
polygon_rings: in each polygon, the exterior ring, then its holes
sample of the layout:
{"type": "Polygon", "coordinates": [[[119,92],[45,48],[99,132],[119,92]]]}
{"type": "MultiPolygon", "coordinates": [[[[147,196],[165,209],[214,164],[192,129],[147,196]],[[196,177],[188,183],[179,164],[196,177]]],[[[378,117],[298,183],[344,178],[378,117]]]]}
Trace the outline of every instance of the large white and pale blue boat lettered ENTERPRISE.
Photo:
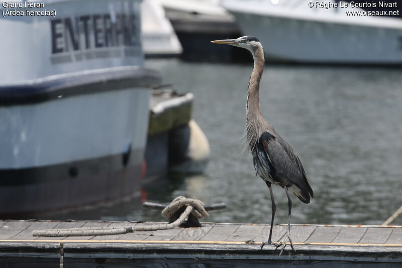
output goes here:
{"type": "MultiPolygon", "coordinates": [[[[139,194],[151,86],[138,0],[0,8],[0,215],[139,194]],[[57,16],[8,16],[11,11],[57,16]]],[[[8,2],[18,3],[18,2],[8,2]]]]}

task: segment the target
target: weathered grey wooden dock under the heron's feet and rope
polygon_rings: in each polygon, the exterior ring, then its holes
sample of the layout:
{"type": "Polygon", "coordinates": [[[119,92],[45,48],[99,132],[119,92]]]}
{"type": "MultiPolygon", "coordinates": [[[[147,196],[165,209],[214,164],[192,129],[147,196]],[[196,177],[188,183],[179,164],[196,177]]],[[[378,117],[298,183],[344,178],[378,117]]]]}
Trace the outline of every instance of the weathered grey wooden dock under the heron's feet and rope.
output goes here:
{"type": "MultiPolygon", "coordinates": [[[[296,252],[261,242],[269,224],[203,223],[108,236],[35,237],[33,230],[117,227],[150,222],[1,221],[0,267],[401,267],[402,226],[291,226],[296,252]],[[246,241],[251,240],[253,242],[246,241]]],[[[154,223],[152,223],[154,224],[154,223]]],[[[273,241],[285,234],[275,225],[273,241]]]]}

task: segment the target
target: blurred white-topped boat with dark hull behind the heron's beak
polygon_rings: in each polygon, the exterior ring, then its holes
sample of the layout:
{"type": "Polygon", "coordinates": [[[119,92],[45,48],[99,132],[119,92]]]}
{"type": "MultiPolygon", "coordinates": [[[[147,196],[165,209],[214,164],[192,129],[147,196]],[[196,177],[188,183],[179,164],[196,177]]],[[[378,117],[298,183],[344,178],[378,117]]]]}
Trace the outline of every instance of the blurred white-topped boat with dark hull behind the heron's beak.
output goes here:
{"type": "MultiPolygon", "coordinates": [[[[235,18],[219,6],[219,0],[159,1],[183,46],[182,59],[222,61],[234,58],[237,48],[210,43],[211,40],[231,39],[240,34],[235,18]]],[[[248,51],[240,53],[249,58],[248,51]]]]}

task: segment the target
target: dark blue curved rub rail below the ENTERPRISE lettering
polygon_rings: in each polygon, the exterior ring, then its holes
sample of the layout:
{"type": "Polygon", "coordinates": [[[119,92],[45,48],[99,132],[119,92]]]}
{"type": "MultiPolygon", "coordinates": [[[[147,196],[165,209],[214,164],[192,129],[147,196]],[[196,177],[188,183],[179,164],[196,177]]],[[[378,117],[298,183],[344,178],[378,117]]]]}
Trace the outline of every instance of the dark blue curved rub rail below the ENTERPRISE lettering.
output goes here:
{"type": "Polygon", "coordinates": [[[0,106],[35,104],[126,88],[156,87],[160,82],[159,72],[134,66],[54,75],[0,86],[0,106]]]}

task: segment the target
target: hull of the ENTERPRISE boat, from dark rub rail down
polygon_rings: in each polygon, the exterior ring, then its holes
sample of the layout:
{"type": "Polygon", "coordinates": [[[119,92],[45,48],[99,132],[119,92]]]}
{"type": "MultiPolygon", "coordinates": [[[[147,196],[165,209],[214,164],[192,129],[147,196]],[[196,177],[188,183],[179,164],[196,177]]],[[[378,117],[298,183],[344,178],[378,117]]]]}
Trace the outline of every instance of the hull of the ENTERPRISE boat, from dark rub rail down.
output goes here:
{"type": "Polygon", "coordinates": [[[157,72],[116,67],[0,87],[0,214],[139,194],[158,82],[157,72]]]}

